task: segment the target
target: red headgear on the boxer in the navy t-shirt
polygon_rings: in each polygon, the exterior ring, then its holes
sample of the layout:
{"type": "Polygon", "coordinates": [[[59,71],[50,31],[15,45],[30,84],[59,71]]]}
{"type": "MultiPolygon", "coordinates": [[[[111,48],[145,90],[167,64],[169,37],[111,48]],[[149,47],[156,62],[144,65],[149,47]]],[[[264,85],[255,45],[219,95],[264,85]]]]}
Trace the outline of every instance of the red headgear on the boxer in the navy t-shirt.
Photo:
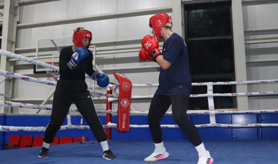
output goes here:
{"type": "Polygon", "coordinates": [[[153,28],[157,37],[162,38],[161,28],[163,26],[172,28],[172,17],[166,13],[156,14],[150,18],[149,26],[153,28]]]}

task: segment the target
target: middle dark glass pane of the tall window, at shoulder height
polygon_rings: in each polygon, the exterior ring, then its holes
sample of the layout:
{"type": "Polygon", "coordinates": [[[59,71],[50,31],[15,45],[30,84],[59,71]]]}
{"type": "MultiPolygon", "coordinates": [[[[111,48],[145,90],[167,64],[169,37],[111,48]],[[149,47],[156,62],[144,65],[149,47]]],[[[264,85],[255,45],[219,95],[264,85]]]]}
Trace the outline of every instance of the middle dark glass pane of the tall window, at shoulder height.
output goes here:
{"type": "Polygon", "coordinates": [[[234,73],[232,39],[188,41],[192,75],[234,73]]]}

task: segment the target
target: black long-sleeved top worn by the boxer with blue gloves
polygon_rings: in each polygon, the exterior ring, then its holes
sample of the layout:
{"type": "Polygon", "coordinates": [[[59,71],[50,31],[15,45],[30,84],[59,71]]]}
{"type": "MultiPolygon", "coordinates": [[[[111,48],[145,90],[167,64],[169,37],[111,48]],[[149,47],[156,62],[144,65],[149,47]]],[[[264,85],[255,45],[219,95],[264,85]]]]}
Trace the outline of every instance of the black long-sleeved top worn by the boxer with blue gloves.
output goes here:
{"type": "Polygon", "coordinates": [[[60,52],[59,57],[59,70],[60,78],[85,80],[85,72],[92,76],[95,70],[93,70],[93,53],[87,49],[89,56],[83,59],[74,69],[68,67],[68,62],[71,60],[73,54],[72,46],[64,47],[60,52]]]}

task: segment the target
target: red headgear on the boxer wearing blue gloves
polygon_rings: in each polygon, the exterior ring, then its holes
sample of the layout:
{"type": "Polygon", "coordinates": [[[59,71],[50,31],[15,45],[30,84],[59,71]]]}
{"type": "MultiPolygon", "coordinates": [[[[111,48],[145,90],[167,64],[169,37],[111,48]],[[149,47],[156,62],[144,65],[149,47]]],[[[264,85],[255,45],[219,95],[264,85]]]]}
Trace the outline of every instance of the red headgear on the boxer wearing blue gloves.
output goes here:
{"type": "MultiPolygon", "coordinates": [[[[92,33],[91,31],[85,30],[83,27],[78,27],[76,30],[73,30],[73,36],[72,36],[72,42],[74,43],[75,46],[77,47],[84,47],[82,38],[86,37],[89,39],[92,39],[92,33]]],[[[91,45],[91,41],[89,45],[86,47],[88,49],[91,45]]]]}

